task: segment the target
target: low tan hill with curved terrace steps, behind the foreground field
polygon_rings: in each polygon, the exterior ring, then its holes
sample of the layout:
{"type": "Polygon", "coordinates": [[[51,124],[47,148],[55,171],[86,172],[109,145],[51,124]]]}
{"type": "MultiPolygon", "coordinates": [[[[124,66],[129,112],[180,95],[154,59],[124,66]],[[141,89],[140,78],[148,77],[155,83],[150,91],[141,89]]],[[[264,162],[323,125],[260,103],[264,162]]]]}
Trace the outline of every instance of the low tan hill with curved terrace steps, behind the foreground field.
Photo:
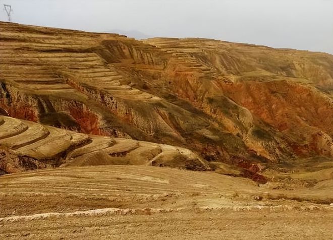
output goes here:
{"type": "Polygon", "coordinates": [[[79,134],[5,116],[0,116],[0,147],[3,173],[111,164],[209,169],[206,161],[185,148],[79,134]]]}

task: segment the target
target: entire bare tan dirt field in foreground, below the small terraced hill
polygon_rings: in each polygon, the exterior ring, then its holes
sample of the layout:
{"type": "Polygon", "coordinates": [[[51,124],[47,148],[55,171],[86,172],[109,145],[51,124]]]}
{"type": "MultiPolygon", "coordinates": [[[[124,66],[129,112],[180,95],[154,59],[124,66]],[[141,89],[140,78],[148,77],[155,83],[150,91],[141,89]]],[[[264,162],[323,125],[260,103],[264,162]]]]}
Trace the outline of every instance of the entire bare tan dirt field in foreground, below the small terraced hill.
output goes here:
{"type": "Polygon", "coordinates": [[[331,239],[332,181],[323,182],[290,191],[120,165],[8,174],[0,177],[0,238],[331,239]]]}

